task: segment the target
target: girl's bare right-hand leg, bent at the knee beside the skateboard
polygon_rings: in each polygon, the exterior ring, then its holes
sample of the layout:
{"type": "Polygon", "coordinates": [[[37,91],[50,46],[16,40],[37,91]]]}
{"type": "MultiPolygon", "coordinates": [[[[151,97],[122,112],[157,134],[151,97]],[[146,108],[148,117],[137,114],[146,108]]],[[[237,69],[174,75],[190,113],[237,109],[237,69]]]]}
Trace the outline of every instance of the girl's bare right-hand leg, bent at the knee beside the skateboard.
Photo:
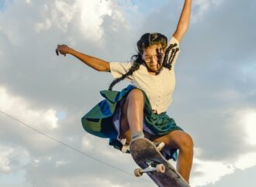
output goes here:
{"type": "Polygon", "coordinates": [[[177,170],[189,182],[194,146],[191,136],[184,131],[176,130],[162,137],[152,138],[151,141],[164,142],[168,148],[178,148],[177,170]]]}

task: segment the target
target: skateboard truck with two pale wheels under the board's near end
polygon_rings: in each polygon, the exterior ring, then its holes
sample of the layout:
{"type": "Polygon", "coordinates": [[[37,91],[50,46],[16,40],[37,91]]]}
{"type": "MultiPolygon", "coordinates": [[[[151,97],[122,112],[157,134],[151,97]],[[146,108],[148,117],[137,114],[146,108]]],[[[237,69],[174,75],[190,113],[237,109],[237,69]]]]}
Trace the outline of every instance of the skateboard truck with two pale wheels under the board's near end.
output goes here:
{"type": "Polygon", "coordinates": [[[136,168],[134,170],[134,175],[137,177],[142,176],[144,173],[147,172],[157,172],[157,173],[164,173],[165,172],[165,166],[163,164],[157,164],[155,165],[154,162],[146,162],[148,165],[147,168],[136,168]]]}

